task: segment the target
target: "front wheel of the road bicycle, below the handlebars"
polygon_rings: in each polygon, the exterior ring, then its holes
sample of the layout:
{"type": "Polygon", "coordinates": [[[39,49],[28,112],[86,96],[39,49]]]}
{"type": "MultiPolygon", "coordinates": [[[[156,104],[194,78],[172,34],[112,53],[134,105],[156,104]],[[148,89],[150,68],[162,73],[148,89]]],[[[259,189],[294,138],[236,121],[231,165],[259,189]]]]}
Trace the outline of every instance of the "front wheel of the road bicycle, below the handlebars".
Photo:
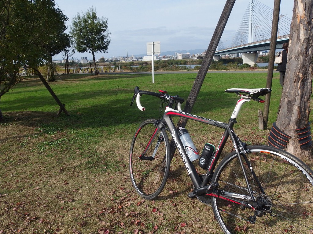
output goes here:
{"type": "Polygon", "coordinates": [[[158,135],[145,154],[147,157],[152,156],[160,134],[162,134],[164,140],[159,142],[154,159],[142,160],[139,158],[156,128],[155,119],[147,119],[142,122],[136,130],[130,149],[131,182],[136,192],[147,200],[154,199],[162,192],[170,171],[170,143],[165,128],[157,130],[156,134],[158,135]]]}

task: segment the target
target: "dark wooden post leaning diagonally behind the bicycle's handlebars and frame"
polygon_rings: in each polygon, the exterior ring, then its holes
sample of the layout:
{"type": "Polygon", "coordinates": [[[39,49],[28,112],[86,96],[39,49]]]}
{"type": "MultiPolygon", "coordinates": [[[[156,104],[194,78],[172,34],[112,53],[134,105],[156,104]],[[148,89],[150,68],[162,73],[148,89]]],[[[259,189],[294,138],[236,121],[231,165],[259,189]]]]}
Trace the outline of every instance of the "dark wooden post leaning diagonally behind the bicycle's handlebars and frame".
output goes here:
{"type": "MultiPolygon", "coordinates": [[[[219,18],[218,24],[215,28],[215,31],[213,33],[212,39],[210,41],[210,44],[208,46],[207,52],[205,53],[205,56],[203,58],[202,64],[200,66],[200,69],[198,71],[198,75],[193,83],[193,86],[191,88],[191,91],[189,93],[189,96],[187,98],[185,107],[184,107],[184,112],[190,113],[192,111],[192,108],[196,102],[196,99],[198,97],[198,94],[200,92],[201,86],[203,84],[203,80],[205,76],[207,75],[209,66],[212,62],[213,55],[216,51],[216,48],[218,46],[218,42],[220,41],[224,28],[226,26],[228,17],[233,9],[233,5],[236,0],[227,0],[223,9],[223,12],[221,14],[221,17],[219,18]]],[[[187,124],[187,119],[185,118],[180,118],[177,124],[177,129],[181,127],[185,127],[187,124]]],[[[171,158],[175,154],[175,145],[173,141],[171,142],[171,158]]]]}

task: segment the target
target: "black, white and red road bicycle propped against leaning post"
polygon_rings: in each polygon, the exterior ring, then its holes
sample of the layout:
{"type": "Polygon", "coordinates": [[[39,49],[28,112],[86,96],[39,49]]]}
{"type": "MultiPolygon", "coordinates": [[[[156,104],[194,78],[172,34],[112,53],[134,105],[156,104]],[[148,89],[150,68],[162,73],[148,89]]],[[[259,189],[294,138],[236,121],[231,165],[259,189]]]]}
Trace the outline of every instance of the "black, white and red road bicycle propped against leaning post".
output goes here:
{"type": "Polygon", "coordinates": [[[143,121],[132,139],[129,164],[136,192],[145,199],[154,199],[162,192],[170,171],[168,136],[171,135],[194,186],[188,196],[212,206],[224,233],[313,233],[312,170],[284,150],[248,146],[233,129],[242,105],[251,100],[262,103],[264,100],[259,96],[270,91],[268,88],[225,90],[240,96],[226,124],[183,112],[184,99],[178,95],[135,87],[131,105],[136,99],[139,110],[145,110],[140,101],[142,95],[158,97],[167,104],[162,118],[143,121]],[[190,161],[189,148],[182,143],[173,116],[224,129],[205,174],[199,175],[190,161]],[[228,137],[234,150],[219,162],[228,137]]]}

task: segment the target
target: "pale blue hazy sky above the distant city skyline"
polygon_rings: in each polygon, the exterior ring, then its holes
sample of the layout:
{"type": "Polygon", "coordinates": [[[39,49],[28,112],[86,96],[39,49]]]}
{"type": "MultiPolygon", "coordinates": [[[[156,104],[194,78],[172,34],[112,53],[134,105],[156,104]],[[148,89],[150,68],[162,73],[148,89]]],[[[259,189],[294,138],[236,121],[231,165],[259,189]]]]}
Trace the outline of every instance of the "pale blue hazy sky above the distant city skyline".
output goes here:
{"type": "MultiPolygon", "coordinates": [[[[250,0],[237,0],[230,14],[221,40],[232,39],[250,0]]],[[[273,8],[274,0],[259,0],[273,8]]],[[[93,7],[98,17],[108,20],[111,42],[107,53],[98,52],[95,58],[146,54],[147,42],[161,42],[161,52],[207,49],[223,11],[226,0],[55,0],[69,18],[85,13],[93,7]]],[[[292,18],[293,0],[281,1],[280,14],[292,18]]],[[[73,57],[87,57],[88,52],[73,57]]],[[[62,55],[54,56],[61,59],[62,55]]]]}

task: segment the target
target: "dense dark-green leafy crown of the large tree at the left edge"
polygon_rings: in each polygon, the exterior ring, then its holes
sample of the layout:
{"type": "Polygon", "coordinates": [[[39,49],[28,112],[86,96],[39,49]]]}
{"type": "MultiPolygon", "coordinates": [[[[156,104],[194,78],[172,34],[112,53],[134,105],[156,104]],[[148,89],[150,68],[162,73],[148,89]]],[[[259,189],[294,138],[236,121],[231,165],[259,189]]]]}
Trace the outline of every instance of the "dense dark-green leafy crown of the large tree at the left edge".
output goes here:
{"type": "Polygon", "coordinates": [[[0,98],[25,78],[19,76],[23,67],[39,73],[38,66],[58,53],[66,20],[54,0],[0,1],[0,98]]]}

